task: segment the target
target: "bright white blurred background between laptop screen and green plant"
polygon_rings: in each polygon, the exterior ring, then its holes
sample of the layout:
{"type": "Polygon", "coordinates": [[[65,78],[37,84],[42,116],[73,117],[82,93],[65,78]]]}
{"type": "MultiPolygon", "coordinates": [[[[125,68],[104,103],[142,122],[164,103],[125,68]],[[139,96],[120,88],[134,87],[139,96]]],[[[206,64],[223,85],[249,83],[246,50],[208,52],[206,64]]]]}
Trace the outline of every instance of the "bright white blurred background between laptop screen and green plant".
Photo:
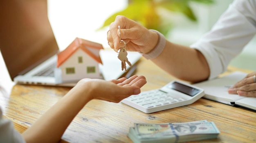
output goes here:
{"type": "Polygon", "coordinates": [[[108,47],[108,28],[98,30],[127,0],[48,0],[48,16],[60,50],[76,37],[108,47]]]}

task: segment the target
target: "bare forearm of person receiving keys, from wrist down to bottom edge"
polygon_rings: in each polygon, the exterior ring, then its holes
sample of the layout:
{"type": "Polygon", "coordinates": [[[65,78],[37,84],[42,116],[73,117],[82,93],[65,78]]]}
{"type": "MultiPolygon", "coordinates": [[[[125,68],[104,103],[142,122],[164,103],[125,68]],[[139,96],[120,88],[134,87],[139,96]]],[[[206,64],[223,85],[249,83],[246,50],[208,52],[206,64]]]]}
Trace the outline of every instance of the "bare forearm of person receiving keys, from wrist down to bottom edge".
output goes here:
{"type": "Polygon", "coordinates": [[[74,117],[91,100],[89,89],[86,93],[79,87],[71,89],[22,134],[27,143],[58,142],[74,117]]]}

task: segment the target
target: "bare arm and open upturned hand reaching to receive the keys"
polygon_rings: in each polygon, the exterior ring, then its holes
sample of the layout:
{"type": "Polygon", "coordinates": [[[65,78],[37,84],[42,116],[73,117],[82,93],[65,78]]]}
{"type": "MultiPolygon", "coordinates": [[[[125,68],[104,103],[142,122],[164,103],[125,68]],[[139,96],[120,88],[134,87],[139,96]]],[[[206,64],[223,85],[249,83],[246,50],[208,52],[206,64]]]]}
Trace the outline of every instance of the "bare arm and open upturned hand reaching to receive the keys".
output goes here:
{"type": "Polygon", "coordinates": [[[145,84],[144,76],[120,78],[111,82],[100,79],[80,80],[22,136],[27,143],[58,142],[74,117],[90,100],[99,99],[117,103],[130,95],[139,94],[140,87],[145,84]]]}

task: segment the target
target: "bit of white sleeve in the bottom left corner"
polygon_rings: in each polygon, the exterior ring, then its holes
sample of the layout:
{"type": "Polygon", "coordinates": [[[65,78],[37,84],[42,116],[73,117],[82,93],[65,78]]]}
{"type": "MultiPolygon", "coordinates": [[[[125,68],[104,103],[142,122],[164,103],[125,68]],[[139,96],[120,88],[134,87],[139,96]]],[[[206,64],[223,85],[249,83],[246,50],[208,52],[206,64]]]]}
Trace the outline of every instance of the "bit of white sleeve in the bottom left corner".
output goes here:
{"type": "Polygon", "coordinates": [[[13,127],[13,122],[2,118],[0,109],[0,143],[26,143],[22,135],[13,127]]]}

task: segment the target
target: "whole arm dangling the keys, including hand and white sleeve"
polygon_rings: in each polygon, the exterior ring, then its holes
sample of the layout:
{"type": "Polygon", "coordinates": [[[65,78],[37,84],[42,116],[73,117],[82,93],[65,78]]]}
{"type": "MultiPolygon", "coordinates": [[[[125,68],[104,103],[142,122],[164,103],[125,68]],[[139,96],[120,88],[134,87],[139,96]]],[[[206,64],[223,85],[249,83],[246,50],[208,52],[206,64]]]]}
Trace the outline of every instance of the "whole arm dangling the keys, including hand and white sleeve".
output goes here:
{"type": "MultiPolygon", "coordinates": [[[[165,46],[159,48],[162,53],[153,56],[152,61],[182,80],[199,82],[216,78],[256,34],[255,10],[255,0],[234,0],[213,28],[190,45],[193,49],[166,41],[165,46]]],[[[115,51],[119,48],[118,25],[128,50],[142,55],[155,52],[157,34],[120,15],[110,24],[107,38],[115,51]]]]}

